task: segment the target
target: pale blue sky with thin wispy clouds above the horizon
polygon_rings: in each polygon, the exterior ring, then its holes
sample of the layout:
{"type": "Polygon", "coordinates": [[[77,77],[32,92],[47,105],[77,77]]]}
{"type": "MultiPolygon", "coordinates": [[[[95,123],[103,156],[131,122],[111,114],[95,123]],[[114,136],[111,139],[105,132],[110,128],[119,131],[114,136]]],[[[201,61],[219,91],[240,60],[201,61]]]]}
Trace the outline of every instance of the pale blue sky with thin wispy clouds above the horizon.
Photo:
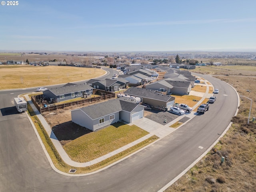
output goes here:
{"type": "Polygon", "coordinates": [[[0,5],[0,50],[256,51],[255,8],[256,0],[19,0],[0,5]]]}

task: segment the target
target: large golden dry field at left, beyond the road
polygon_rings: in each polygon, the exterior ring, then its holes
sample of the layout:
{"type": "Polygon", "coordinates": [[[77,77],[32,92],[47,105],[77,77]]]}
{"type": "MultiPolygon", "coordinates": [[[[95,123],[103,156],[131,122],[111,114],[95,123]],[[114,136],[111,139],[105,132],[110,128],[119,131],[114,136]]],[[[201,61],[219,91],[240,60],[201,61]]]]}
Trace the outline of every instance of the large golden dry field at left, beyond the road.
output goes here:
{"type": "Polygon", "coordinates": [[[70,66],[8,65],[0,66],[0,71],[0,90],[63,84],[105,74],[102,69],[70,66]]]}

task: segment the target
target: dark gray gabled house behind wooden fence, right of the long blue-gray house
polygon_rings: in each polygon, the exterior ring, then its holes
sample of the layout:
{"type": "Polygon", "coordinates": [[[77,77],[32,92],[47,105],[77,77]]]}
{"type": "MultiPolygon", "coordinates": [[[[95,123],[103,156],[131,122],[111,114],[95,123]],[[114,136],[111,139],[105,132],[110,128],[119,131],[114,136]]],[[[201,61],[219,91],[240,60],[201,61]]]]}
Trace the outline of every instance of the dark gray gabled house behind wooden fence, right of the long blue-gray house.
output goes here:
{"type": "Polygon", "coordinates": [[[86,83],[90,84],[94,89],[115,92],[125,89],[129,82],[123,78],[112,78],[105,80],[90,79],[86,83]]]}

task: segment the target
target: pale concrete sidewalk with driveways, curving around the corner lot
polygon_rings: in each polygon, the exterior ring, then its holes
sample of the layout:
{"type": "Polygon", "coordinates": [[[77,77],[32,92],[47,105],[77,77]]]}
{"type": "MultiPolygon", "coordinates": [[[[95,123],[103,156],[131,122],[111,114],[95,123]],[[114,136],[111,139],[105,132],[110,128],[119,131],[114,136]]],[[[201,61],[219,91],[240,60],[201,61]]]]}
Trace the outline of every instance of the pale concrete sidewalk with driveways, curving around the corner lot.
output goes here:
{"type": "MultiPolygon", "coordinates": [[[[205,81],[207,82],[207,81],[205,81]]],[[[202,84],[202,86],[206,86],[206,93],[201,93],[201,92],[193,92],[193,95],[197,95],[197,96],[202,96],[202,99],[200,101],[197,102],[197,104],[195,106],[193,106],[193,110],[195,108],[198,107],[198,105],[205,99],[205,98],[209,98],[210,96],[212,96],[213,94],[209,94],[209,87],[211,85],[209,85],[208,83],[206,84],[202,84]]],[[[58,151],[58,153],[60,154],[61,158],[64,160],[64,162],[70,166],[74,166],[74,167],[86,167],[86,166],[90,166],[93,164],[96,164],[98,162],[101,162],[102,160],[106,160],[107,158],[110,158],[111,156],[114,156],[148,138],[150,138],[153,135],[158,136],[159,138],[164,138],[165,136],[171,134],[172,132],[174,132],[174,130],[177,130],[177,128],[170,128],[170,125],[174,124],[175,122],[179,121],[180,119],[184,118],[184,116],[189,117],[188,121],[191,120],[194,116],[195,116],[195,112],[191,112],[189,114],[185,114],[182,116],[178,116],[175,120],[173,120],[172,122],[169,122],[165,125],[159,124],[157,122],[154,122],[148,118],[141,118],[129,125],[136,125],[144,130],[146,130],[147,132],[149,132],[148,135],[130,143],[127,144],[126,146],[123,146],[115,151],[112,151],[102,157],[96,158],[90,162],[85,162],[85,163],[79,163],[79,162],[75,162],[73,160],[70,159],[70,157],[68,156],[68,154],[65,152],[65,150],[62,148],[60,142],[58,141],[58,139],[56,138],[54,132],[52,131],[51,127],[48,125],[48,123],[46,122],[46,120],[44,119],[44,117],[40,114],[40,112],[37,110],[36,106],[34,106],[34,104],[32,103],[32,101],[30,100],[30,98],[28,97],[28,95],[25,95],[26,100],[28,101],[28,103],[30,104],[30,106],[32,107],[32,109],[34,110],[36,116],[38,117],[38,119],[40,120],[40,122],[42,123],[42,125],[44,126],[46,132],[48,133],[50,139],[52,140],[52,143],[54,144],[56,150],[58,151]]],[[[188,122],[187,121],[187,122],[188,122]]],[[[184,122],[182,125],[184,125],[186,122],[184,122]]],[[[34,127],[34,124],[32,124],[32,126],[34,127]]],[[[179,127],[178,127],[179,128],[179,127]]],[[[36,129],[35,129],[36,130],[36,129]]]]}

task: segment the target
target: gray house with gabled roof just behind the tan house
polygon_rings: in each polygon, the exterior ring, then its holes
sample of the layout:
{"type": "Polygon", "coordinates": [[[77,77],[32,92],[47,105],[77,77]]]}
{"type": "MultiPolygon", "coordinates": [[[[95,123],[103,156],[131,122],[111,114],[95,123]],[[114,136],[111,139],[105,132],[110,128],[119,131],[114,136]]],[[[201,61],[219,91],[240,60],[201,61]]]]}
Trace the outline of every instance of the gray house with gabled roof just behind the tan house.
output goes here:
{"type": "Polygon", "coordinates": [[[192,83],[189,81],[175,81],[175,80],[159,80],[149,85],[146,85],[147,89],[158,90],[165,94],[182,94],[187,95],[190,93],[192,83]]]}

